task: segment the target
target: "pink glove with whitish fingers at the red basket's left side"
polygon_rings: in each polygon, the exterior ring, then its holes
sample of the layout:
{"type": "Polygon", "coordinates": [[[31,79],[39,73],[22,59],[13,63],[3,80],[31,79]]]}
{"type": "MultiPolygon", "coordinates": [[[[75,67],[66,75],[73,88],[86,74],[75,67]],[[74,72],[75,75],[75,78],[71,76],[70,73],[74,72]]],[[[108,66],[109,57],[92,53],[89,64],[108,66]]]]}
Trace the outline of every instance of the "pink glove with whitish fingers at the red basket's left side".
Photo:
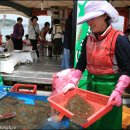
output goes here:
{"type": "Polygon", "coordinates": [[[62,89],[63,93],[66,93],[68,90],[75,88],[81,76],[82,76],[82,72],[76,69],[69,83],[62,89]]]}

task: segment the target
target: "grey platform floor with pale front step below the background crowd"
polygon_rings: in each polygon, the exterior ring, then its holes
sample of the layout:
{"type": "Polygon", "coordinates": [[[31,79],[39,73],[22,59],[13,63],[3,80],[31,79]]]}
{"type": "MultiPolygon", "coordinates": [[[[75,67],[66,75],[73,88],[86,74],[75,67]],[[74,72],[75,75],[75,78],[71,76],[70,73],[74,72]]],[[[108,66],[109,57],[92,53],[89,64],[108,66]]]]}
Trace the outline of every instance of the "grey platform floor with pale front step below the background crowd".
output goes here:
{"type": "Polygon", "coordinates": [[[3,73],[6,81],[23,83],[51,84],[52,75],[61,70],[61,58],[41,57],[31,64],[20,64],[12,74],[3,73]]]}

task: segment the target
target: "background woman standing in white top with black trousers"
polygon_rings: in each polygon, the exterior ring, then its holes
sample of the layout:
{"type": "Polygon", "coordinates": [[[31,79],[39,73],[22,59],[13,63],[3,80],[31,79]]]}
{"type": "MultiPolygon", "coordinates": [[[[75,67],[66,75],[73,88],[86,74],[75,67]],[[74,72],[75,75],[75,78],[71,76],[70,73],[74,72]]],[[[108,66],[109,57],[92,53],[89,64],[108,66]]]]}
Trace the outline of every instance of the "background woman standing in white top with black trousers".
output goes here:
{"type": "Polygon", "coordinates": [[[29,34],[29,39],[32,44],[32,50],[36,50],[37,57],[39,57],[39,52],[37,49],[37,41],[39,37],[39,24],[37,23],[38,17],[33,16],[31,18],[30,24],[28,26],[28,34],[29,34]]]}

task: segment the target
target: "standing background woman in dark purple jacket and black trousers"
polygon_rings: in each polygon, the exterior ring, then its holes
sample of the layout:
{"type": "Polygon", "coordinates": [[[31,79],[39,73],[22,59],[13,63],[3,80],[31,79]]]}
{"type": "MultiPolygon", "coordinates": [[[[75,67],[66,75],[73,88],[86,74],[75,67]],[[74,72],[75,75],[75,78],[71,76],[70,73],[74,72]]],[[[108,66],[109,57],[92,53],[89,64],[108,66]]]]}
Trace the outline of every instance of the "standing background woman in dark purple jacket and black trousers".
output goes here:
{"type": "Polygon", "coordinates": [[[24,36],[24,28],[22,22],[23,19],[19,17],[17,18],[17,23],[14,25],[14,30],[12,34],[14,50],[22,50],[23,47],[22,37],[24,36]]]}

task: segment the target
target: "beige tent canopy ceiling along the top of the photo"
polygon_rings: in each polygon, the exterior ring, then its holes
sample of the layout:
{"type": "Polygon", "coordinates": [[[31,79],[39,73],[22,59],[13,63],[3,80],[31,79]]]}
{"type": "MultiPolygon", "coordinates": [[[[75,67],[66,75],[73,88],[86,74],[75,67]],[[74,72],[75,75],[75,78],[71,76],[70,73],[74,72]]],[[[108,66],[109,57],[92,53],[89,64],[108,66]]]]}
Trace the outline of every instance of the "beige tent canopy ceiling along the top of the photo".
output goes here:
{"type": "MultiPolygon", "coordinates": [[[[51,7],[58,6],[60,8],[73,8],[73,0],[1,0],[0,1],[0,14],[19,14],[26,16],[22,11],[18,11],[16,6],[11,7],[13,3],[21,5],[28,9],[43,8],[50,9],[51,7]],[[10,2],[10,4],[8,4],[10,2]],[[4,3],[4,6],[3,4],[4,3]],[[7,3],[7,4],[6,4],[7,3]]],[[[130,0],[110,0],[114,7],[130,7],[130,0]]]]}

